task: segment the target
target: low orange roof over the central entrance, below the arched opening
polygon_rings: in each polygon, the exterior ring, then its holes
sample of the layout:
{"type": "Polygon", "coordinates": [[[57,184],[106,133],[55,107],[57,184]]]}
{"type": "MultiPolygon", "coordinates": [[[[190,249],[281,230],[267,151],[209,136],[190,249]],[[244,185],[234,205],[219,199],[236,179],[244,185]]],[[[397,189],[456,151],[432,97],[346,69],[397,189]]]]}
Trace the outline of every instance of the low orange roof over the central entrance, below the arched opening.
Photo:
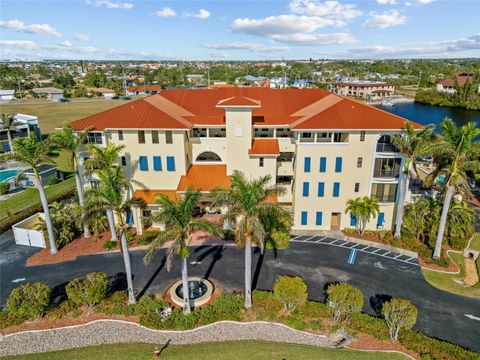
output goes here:
{"type": "Polygon", "coordinates": [[[209,192],[213,188],[230,186],[230,176],[227,176],[226,165],[192,165],[178,183],[177,191],[188,188],[209,192]]]}

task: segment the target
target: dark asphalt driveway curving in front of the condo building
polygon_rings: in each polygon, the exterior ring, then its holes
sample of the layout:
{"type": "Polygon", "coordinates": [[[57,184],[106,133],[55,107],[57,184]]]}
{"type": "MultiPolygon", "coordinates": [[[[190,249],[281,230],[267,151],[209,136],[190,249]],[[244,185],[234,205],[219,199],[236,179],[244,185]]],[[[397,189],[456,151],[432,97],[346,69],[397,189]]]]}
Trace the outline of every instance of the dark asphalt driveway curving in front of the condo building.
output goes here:
{"type": "MultiPolygon", "coordinates": [[[[56,289],[75,276],[91,271],[121,275],[123,261],[119,253],[79,257],[61,264],[25,267],[30,249],[9,243],[1,244],[0,303],[4,304],[11,289],[24,281],[44,281],[56,289]],[[18,250],[14,250],[18,248],[18,250]],[[4,254],[5,251],[5,254],[4,254]]],[[[415,264],[369,252],[328,245],[320,242],[292,242],[278,252],[264,256],[254,252],[253,284],[270,290],[279,275],[298,275],[308,284],[309,297],[324,300],[325,285],[346,281],[360,288],[365,296],[364,310],[375,314],[378,304],[390,297],[411,300],[419,309],[415,329],[431,336],[457,343],[480,352],[480,300],[457,296],[430,286],[415,264]]],[[[180,262],[174,261],[170,272],[164,266],[164,250],[147,266],[144,251],[132,252],[134,286],[137,294],[164,292],[180,277],[180,262]]],[[[243,289],[243,251],[235,247],[200,246],[192,248],[189,265],[191,276],[203,276],[217,282],[225,291],[243,289]]]]}

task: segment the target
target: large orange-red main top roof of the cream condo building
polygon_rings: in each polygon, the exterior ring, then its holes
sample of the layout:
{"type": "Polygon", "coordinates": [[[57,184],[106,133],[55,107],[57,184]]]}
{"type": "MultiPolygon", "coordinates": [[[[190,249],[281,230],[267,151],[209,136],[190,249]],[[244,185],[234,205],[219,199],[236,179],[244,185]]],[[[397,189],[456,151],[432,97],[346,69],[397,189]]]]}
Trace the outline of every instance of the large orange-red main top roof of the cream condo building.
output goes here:
{"type": "Polygon", "coordinates": [[[188,129],[194,125],[225,125],[222,105],[240,104],[259,106],[252,109],[255,126],[291,126],[297,130],[402,129],[408,121],[322,89],[228,87],[162,91],[77,120],[73,122],[73,127],[76,130],[88,126],[93,126],[95,130],[188,129]]]}

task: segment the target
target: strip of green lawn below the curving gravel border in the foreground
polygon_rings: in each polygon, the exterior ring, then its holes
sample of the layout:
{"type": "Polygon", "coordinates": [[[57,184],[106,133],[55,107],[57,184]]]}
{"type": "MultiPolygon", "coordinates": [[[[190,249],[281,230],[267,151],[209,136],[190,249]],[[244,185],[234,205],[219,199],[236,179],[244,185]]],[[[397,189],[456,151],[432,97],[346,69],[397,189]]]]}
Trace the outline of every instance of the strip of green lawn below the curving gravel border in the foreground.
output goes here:
{"type": "MultiPolygon", "coordinates": [[[[154,359],[153,352],[159,346],[149,344],[119,344],[94,346],[46,354],[11,356],[5,359],[25,360],[80,360],[80,359],[154,359]]],[[[270,360],[270,359],[329,359],[329,360],[400,360],[406,356],[397,353],[361,352],[354,350],[330,350],[312,346],[276,344],[261,341],[234,341],[198,345],[172,345],[166,347],[159,359],[188,360],[270,360]]]]}

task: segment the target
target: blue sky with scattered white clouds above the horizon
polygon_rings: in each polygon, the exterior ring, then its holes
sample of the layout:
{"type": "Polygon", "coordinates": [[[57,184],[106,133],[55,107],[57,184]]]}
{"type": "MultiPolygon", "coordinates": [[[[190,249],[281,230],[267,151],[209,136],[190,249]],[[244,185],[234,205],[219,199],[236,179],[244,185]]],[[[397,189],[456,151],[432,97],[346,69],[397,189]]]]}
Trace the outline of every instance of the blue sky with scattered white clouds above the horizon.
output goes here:
{"type": "Polygon", "coordinates": [[[480,0],[0,1],[0,59],[480,57],[480,0]]]}

